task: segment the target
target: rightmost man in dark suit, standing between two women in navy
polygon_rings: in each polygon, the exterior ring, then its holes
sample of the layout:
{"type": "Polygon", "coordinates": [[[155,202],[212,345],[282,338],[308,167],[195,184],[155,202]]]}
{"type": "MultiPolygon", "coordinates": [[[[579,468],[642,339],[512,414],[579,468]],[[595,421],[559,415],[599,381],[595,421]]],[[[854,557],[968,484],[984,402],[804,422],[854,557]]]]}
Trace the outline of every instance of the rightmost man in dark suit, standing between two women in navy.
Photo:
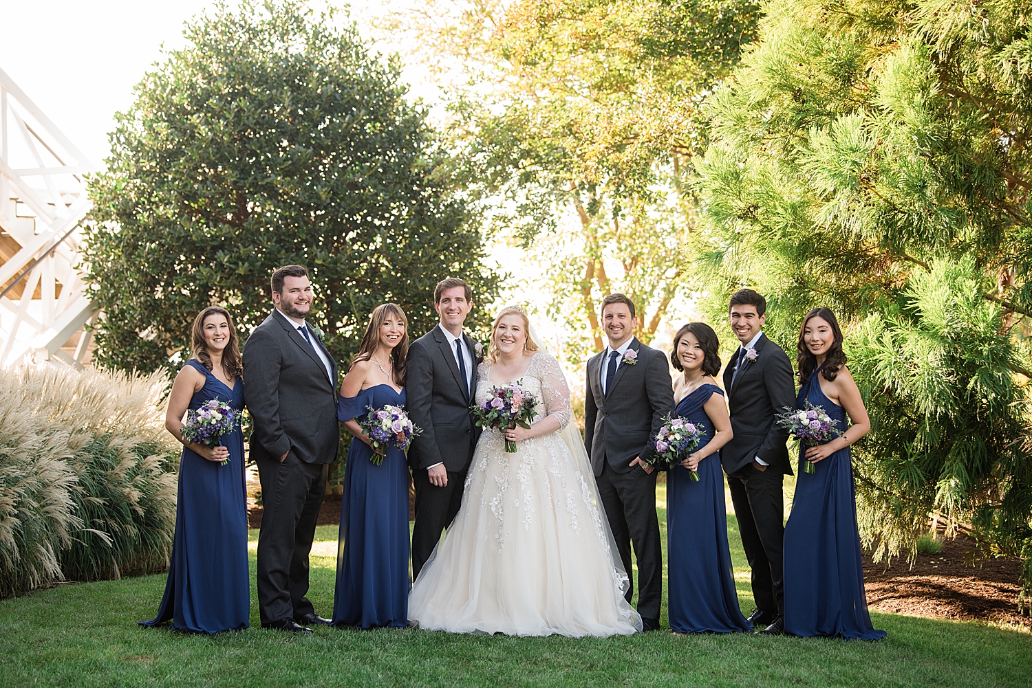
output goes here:
{"type": "Polygon", "coordinates": [[[731,297],[729,321],[741,342],[723,370],[735,436],[720,450],[731,500],[752,569],[756,610],[749,622],[761,632],[777,634],[784,611],[784,501],[781,486],[792,474],[787,431],[774,423],[783,406],[796,405],[792,363],[767,338],[767,299],[751,289],[731,297]]]}

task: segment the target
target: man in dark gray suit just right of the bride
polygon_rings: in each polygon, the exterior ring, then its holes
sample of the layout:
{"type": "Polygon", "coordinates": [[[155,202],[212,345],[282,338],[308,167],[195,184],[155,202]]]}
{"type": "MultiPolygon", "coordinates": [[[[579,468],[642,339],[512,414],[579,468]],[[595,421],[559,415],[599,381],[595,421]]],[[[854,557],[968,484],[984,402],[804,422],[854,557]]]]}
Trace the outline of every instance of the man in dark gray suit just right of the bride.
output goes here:
{"type": "Polygon", "coordinates": [[[667,356],[634,336],[635,304],[623,294],[602,300],[609,346],[587,362],[584,449],[634,594],[631,544],[638,557],[638,613],[644,630],[658,630],[663,598],[663,546],[655,515],[655,469],[644,459],[663,417],[674,408],[667,356]]]}

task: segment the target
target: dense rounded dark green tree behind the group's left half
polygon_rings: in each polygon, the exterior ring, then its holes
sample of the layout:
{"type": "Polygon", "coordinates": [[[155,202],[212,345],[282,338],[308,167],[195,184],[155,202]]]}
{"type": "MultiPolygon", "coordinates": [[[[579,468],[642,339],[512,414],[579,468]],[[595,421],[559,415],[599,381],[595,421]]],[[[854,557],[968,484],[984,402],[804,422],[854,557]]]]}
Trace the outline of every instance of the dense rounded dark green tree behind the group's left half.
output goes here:
{"type": "Polygon", "coordinates": [[[313,320],[338,361],[378,303],[400,304],[418,335],[440,279],[493,297],[479,229],[395,60],[301,0],[220,4],[185,35],[117,116],[107,171],[91,181],[101,365],[169,365],[213,302],[246,336],[289,263],[310,268],[313,320]]]}

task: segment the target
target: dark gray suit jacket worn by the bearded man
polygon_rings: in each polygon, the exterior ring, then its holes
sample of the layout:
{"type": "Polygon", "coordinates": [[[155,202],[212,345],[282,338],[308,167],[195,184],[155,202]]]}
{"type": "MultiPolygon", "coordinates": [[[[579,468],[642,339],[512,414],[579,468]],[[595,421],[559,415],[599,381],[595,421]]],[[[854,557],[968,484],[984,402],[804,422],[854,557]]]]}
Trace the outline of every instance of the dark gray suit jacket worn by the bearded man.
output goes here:
{"type": "Polygon", "coordinates": [[[309,336],[330,363],[326,374],[319,356],[297,328],[272,310],[244,345],[244,399],[254,422],[251,457],[275,457],[292,451],[304,463],[336,458],[336,363],[318,332],[309,336]]]}

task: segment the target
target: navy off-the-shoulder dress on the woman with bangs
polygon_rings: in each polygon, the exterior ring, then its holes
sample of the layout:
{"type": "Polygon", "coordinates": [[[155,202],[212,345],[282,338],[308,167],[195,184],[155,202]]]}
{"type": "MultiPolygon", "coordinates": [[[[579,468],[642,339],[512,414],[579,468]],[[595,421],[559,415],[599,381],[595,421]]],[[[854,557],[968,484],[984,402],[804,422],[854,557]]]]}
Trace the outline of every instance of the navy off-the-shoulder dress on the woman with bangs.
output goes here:
{"type": "MultiPolygon", "coordinates": [[[[376,385],[337,399],[340,421],[368,407],[405,406],[405,390],[376,385]]],[[[409,624],[409,468],[405,453],[388,449],[380,465],[373,449],[351,440],[341,502],[341,535],[333,625],[401,628],[409,624]]]]}

